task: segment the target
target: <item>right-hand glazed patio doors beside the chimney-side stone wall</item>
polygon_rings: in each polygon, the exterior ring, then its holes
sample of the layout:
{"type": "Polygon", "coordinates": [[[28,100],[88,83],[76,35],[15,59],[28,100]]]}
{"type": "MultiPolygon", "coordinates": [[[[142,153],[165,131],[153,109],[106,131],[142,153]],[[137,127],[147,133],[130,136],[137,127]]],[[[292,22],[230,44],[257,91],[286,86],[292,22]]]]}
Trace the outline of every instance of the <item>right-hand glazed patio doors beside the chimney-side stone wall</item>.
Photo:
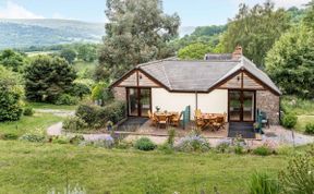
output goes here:
{"type": "Polygon", "coordinates": [[[255,120],[255,92],[228,92],[229,121],[254,122],[255,120]]]}

